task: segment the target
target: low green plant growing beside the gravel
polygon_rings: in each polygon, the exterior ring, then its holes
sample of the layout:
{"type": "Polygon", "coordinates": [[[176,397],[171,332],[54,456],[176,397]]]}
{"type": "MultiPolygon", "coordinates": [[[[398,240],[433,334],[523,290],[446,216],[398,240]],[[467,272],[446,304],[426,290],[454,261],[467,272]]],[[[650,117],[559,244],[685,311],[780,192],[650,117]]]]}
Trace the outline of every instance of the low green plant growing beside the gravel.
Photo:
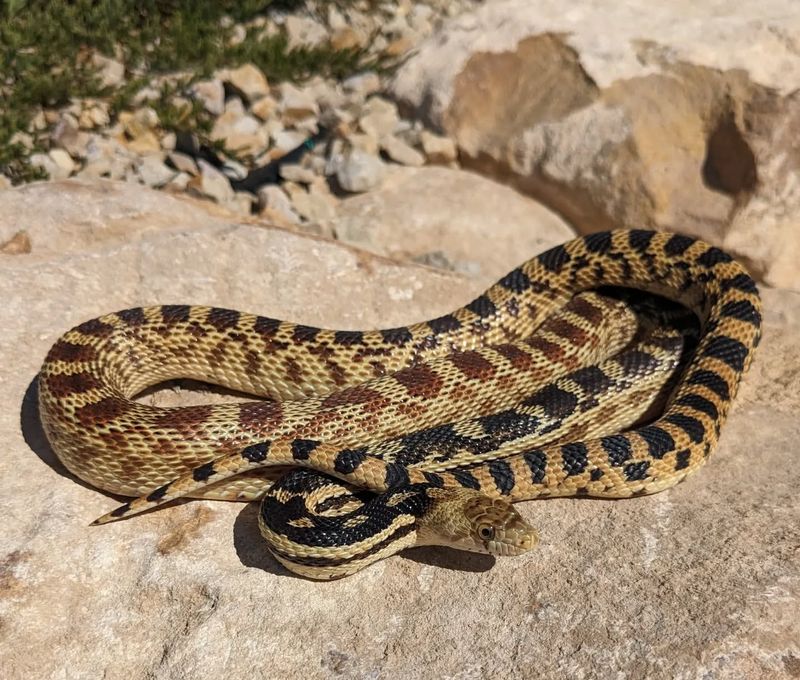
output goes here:
{"type": "MultiPolygon", "coordinates": [[[[274,3],[281,9],[302,4],[274,3]]],[[[154,74],[189,71],[205,77],[224,66],[252,62],[280,82],[317,73],[343,77],[380,66],[368,64],[364,50],[290,50],[284,35],[263,37],[255,28],[231,45],[233,28],[223,19],[246,22],[270,5],[271,0],[0,0],[0,173],[15,183],[41,175],[27,164],[27,151],[10,144],[39,110],[72,99],[108,97],[112,112],[120,111],[154,74]],[[92,61],[95,53],[121,59],[127,82],[103,87],[92,61]]],[[[155,105],[165,127],[208,131],[210,119],[199,108],[185,111],[170,99],[164,95],[155,105]]]]}

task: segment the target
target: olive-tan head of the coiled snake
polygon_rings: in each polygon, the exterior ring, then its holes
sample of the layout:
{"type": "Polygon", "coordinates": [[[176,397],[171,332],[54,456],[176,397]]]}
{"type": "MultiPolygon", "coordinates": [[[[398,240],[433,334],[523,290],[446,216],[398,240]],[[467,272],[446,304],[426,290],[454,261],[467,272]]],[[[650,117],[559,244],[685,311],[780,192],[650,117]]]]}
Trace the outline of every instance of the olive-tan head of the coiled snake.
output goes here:
{"type": "Polygon", "coordinates": [[[431,489],[417,545],[446,545],[490,555],[521,555],[539,542],[536,530],[506,500],[469,489],[431,489]]]}

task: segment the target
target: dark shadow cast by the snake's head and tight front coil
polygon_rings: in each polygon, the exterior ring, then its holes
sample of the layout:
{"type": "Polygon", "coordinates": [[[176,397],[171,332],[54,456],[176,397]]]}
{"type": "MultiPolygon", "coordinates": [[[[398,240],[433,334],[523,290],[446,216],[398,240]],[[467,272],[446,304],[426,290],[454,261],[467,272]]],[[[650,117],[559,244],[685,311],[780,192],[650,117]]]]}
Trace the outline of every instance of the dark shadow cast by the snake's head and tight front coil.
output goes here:
{"type": "MultiPolygon", "coordinates": [[[[280,564],[267,549],[258,528],[258,508],[258,503],[248,503],[237,515],[233,524],[233,545],[239,561],[245,567],[305,581],[305,578],[292,573],[280,564]]],[[[414,548],[401,553],[400,557],[441,569],[476,573],[489,571],[495,563],[495,558],[491,555],[464,552],[441,546],[414,548]]]]}

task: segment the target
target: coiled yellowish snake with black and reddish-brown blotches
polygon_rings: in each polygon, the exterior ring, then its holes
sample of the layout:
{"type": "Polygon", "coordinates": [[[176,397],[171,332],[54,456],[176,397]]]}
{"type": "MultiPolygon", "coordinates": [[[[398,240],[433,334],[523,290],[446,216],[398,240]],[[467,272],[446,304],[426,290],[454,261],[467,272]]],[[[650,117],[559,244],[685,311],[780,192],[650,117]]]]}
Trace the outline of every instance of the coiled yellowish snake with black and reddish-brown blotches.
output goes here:
{"type": "Polygon", "coordinates": [[[71,473],[135,497],[95,524],[183,497],[260,499],[275,558],[333,579],[419,545],[521,555],[539,537],[518,501],[673,487],[716,447],[760,336],[758,289],[730,255],[616,229],[403,327],[191,305],[107,314],[52,346],[39,410],[71,473]],[[687,310],[696,337],[643,321],[630,291],[687,310]],[[259,399],[135,400],[175,378],[259,399]]]}

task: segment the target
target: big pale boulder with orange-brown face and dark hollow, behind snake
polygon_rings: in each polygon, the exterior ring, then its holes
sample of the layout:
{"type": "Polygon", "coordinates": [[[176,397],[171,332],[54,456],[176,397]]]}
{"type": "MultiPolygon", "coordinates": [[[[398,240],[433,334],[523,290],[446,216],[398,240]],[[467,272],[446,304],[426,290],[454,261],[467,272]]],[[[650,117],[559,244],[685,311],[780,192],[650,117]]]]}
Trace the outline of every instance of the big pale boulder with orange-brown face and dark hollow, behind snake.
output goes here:
{"type": "Polygon", "coordinates": [[[800,289],[798,31],[791,0],[490,0],[393,89],[582,232],[698,235],[800,289]]]}

